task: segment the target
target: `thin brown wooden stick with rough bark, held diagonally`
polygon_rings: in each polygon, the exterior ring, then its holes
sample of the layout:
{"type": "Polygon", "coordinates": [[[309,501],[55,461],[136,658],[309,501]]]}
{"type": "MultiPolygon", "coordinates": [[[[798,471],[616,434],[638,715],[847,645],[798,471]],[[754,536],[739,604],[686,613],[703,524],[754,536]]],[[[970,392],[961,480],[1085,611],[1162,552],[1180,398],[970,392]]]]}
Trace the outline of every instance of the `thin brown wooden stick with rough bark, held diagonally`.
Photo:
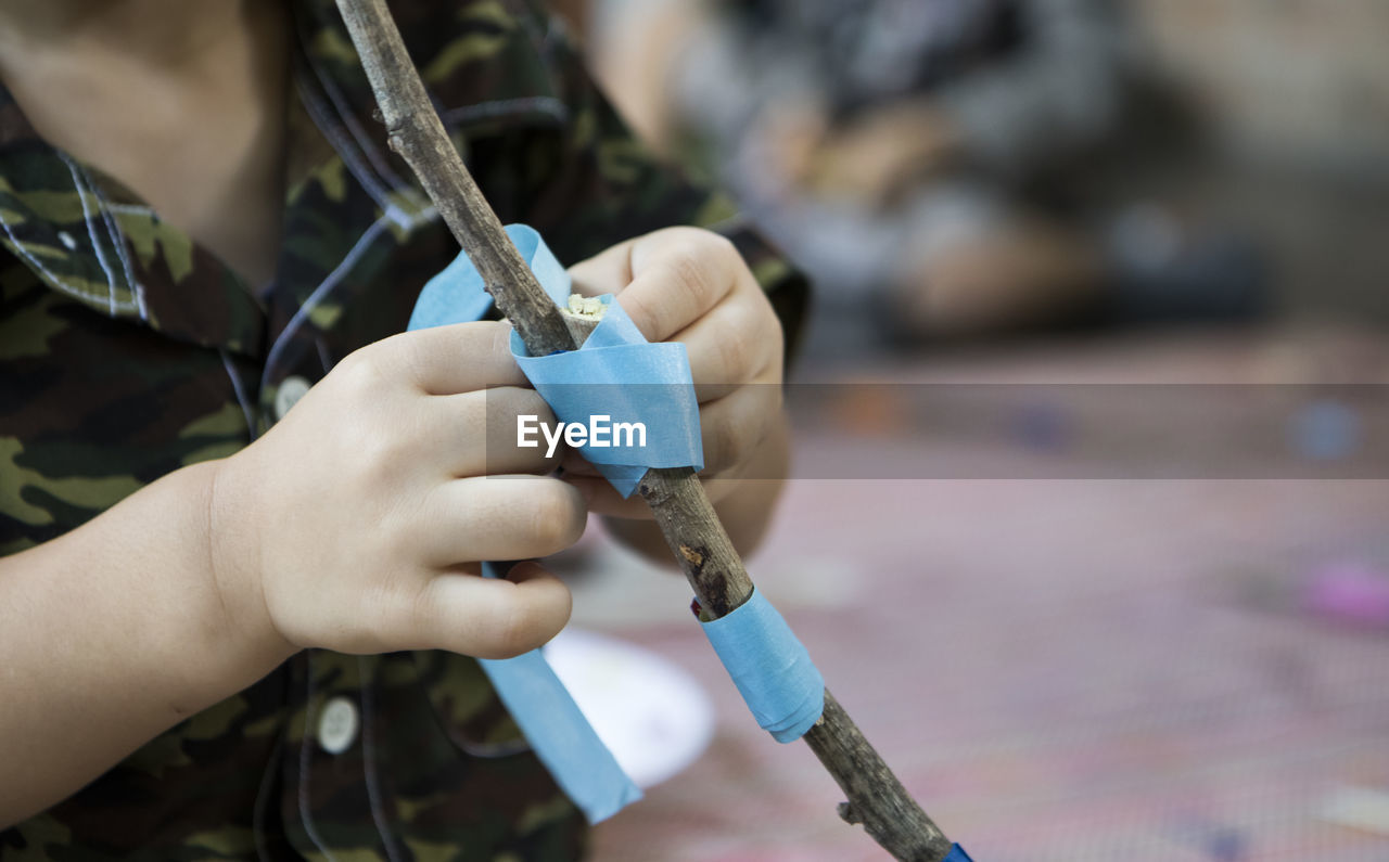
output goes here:
{"type": "MultiPolygon", "coordinates": [[[[564,315],[535,280],[454,150],[410,61],[385,0],[338,0],[361,56],[390,147],[419,178],[458,244],[526,348],[535,355],[578,344],[564,315]]],[[[720,618],[753,594],[742,558],[692,468],[651,469],[639,490],[704,614],[720,618]]],[[[951,844],[907,794],[878,752],[825,691],[825,712],[806,743],[849,797],[839,806],[896,859],[940,862],[951,844]]]]}

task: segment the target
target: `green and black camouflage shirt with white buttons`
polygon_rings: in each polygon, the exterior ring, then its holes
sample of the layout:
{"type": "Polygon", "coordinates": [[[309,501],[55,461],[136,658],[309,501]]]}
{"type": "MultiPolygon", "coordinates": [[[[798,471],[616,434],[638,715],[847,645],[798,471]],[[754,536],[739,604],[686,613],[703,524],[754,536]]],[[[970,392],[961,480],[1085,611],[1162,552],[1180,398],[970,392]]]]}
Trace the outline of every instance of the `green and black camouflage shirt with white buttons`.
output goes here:
{"type": "MultiPolygon", "coordinates": [[[[795,330],[804,283],[647,157],[543,8],[392,8],[503,221],[565,262],[715,225],[795,330]]],[[[372,121],[332,1],[293,14],[285,239],[263,289],[44,143],[0,89],[0,552],[244,447],[335,361],[403,330],[457,253],[372,121]]],[[[0,858],[569,859],[583,834],[476,662],[310,650],[0,833],[0,858]]]]}

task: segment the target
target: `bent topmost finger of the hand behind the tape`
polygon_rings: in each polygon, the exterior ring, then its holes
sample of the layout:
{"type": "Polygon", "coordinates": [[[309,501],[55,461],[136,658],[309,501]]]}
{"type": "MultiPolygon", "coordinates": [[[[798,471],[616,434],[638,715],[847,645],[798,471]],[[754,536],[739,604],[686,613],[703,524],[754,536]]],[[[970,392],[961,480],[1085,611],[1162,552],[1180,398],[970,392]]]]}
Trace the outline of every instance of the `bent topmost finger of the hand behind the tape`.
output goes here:
{"type": "Polygon", "coordinates": [[[632,280],[618,303],[649,341],[664,341],[724,298],[742,258],[717,233],[672,228],[632,244],[632,280]]]}

